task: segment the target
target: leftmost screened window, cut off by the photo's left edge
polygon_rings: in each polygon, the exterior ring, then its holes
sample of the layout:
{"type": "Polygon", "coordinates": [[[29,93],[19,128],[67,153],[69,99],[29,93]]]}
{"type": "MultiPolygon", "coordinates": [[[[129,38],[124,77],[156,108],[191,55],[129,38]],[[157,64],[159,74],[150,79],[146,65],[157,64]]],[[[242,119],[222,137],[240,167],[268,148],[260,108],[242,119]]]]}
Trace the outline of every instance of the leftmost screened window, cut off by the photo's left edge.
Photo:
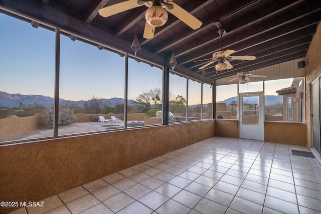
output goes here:
{"type": "Polygon", "coordinates": [[[0,141],[51,137],[55,31],[4,14],[0,26],[0,141]]]}

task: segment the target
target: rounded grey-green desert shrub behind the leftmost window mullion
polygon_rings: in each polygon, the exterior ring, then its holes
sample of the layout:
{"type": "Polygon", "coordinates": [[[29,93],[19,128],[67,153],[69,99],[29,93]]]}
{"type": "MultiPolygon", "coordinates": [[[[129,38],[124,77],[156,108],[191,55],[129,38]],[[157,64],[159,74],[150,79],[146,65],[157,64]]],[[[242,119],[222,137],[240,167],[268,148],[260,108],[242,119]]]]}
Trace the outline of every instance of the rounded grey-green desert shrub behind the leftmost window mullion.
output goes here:
{"type": "MultiPolygon", "coordinates": [[[[58,126],[66,126],[76,122],[77,117],[69,106],[59,107],[58,126]]],[[[54,125],[54,108],[46,108],[43,114],[43,123],[47,127],[54,125]]]]}

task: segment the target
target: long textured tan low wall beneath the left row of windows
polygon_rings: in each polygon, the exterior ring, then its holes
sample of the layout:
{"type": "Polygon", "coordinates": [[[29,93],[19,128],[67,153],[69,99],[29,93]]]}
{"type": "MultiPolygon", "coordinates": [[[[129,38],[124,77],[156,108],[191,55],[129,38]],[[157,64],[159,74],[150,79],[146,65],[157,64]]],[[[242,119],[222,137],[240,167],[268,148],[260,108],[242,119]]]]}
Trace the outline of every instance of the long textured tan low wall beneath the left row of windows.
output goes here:
{"type": "Polygon", "coordinates": [[[1,146],[0,201],[38,201],[213,136],[206,120],[1,146]]]}

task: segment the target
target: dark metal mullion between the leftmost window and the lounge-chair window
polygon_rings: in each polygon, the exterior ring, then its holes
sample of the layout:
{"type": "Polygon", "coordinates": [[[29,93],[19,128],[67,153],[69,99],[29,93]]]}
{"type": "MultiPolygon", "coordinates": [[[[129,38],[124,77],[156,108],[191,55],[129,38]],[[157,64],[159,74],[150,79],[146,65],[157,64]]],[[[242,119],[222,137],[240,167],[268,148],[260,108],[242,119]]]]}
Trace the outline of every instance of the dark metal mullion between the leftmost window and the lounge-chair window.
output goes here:
{"type": "Polygon", "coordinates": [[[59,75],[60,75],[60,29],[56,28],[55,53],[55,103],[54,103],[54,137],[58,136],[59,125],[59,75]]]}

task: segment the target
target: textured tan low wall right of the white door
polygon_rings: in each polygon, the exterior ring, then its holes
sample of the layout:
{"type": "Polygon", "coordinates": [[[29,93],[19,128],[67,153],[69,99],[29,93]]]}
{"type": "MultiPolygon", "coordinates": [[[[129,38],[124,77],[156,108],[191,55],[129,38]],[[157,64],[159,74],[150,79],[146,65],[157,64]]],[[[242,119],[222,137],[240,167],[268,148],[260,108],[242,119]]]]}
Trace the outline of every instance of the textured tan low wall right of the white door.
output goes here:
{"type": "Polygon", "coordinates": [[[306,124],[264,122],[264,141],[305,146],[306,124]]]}

